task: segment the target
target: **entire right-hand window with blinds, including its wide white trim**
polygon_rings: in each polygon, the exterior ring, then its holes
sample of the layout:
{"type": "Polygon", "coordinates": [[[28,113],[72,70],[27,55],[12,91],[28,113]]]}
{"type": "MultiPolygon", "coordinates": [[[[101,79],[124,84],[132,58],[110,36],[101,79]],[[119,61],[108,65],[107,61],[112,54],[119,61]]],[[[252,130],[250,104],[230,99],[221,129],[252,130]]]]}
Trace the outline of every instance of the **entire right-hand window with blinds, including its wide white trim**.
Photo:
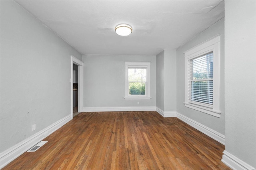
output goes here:
{"type": "Polygon", "coordinates": [[[220,117],[220,36],[185,53],[185,107],[220,117]]]}

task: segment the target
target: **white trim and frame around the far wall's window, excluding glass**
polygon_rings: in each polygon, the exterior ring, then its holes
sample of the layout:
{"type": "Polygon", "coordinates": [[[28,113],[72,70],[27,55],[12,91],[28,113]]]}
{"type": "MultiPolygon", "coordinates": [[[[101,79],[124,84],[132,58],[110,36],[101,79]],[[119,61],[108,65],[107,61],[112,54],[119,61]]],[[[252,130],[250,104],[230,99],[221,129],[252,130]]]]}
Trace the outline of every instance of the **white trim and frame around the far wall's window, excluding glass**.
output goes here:
{"type": "Polygon", "coordinates": [[[125,100],[150,100],[150,62],[125,62],[125,100]],[[145,95],[129,95],[128,68],[146,68],[145,95]]]}

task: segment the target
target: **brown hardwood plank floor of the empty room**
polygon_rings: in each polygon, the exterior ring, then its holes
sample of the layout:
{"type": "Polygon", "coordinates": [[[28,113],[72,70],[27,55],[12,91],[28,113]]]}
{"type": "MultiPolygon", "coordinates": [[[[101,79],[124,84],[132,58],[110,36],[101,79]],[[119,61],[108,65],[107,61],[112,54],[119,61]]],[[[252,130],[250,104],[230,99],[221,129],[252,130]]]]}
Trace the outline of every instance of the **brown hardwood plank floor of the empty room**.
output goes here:
{"type": "Polygon", "coordinates": [[[155,111],[80,113],[3,170],[229,170],[225,146],[155,111]]]}

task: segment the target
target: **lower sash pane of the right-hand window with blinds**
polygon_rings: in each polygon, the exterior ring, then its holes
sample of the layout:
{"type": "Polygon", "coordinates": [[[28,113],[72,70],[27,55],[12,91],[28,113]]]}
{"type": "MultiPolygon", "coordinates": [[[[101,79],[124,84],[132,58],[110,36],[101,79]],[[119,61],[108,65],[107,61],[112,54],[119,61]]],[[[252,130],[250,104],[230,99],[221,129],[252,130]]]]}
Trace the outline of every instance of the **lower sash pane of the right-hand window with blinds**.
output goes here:
{"type": "Polygon", "coordinates": [[[213,104],[213,80],[192,81],[190,94],[191,101],[213,104]]]}

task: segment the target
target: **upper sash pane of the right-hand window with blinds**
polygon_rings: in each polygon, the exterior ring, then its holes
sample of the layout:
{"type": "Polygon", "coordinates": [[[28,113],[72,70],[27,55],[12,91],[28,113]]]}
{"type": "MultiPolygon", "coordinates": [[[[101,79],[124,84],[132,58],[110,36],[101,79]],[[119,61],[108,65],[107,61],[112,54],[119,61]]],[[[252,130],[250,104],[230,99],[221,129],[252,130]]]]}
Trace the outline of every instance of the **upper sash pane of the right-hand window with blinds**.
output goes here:
{"type": "Polygon", "coordinates": [[[213,52],[192,59],[192,80],[213,78],[213,52]]]}

